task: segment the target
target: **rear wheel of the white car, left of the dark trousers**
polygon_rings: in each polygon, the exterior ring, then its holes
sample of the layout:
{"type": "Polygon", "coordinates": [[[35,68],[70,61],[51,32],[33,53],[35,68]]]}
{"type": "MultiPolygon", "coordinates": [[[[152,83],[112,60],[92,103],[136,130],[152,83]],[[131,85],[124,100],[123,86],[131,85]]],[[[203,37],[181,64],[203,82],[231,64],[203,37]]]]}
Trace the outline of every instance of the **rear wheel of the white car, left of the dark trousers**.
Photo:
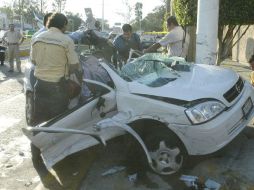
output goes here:
{"type": "Polygon", "coordinates": [[[32,92],[26,94],[26,123],[29,126],[33,126],[35,124],[34,96],[32,92]]]}

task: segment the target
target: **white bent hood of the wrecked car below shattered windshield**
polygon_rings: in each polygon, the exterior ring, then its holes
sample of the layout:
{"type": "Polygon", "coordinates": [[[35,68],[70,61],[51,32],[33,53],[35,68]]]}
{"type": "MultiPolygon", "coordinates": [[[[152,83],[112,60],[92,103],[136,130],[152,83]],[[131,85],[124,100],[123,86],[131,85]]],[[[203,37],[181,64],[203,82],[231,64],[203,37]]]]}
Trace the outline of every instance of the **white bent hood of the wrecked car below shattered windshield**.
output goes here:
{"type": "Polygon", "coordinates": [[[149,87],[136,81],[129,83],[133,94],[147,94],[185,101],[216,98],[225,102],[223,94],[237,82],[239,76],[232,70],[204,64],[194,64],[189,72],[179,72],[175,81],[161,87],[149,87]]]}

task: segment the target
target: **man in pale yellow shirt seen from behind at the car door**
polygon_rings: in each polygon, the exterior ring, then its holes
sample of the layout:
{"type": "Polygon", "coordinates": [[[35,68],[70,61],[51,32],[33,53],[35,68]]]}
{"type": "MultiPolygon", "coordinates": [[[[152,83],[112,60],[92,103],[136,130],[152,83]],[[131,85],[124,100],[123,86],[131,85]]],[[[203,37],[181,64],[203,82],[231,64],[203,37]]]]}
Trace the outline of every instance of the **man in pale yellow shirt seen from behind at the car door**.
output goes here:
{"type": "Polygon", "coordinates": [[[48,20],[48,30],[32,41],[31,60],[37,78],[34,87],[35,120],[47,121],[67,110],[69,98],[65,76],[79,67],[74,43],[64,34],[68,20],[54,13],[48,20]]]}

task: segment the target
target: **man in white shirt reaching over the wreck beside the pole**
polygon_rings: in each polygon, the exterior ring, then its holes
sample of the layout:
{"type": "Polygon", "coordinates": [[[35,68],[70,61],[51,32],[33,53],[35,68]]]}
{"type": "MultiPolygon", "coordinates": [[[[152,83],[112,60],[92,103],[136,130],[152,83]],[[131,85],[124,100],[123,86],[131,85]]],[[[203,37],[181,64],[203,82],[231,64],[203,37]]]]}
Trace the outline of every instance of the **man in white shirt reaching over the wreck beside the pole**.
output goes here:
{"type": "Polygon", "coordinates": [[[189,46],[189,35],[179,26],[176,17],[167,19],[168,34],[157,43],[144,50],[144,53],[155,52],[161,46],[167,47],[169,56],[186,58],[189,46]]]}

